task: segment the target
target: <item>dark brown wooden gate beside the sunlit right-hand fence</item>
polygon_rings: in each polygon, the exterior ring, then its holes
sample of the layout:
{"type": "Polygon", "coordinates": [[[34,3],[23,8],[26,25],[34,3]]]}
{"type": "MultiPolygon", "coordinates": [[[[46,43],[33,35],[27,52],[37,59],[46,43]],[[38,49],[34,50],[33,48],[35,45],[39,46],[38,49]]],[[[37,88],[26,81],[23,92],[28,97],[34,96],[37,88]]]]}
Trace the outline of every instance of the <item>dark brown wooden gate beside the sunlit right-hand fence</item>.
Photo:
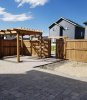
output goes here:
{"type": "Polygon", "coordinates": [[[64,39],[56,39],[56,58],[64,59],[64,39]]]}

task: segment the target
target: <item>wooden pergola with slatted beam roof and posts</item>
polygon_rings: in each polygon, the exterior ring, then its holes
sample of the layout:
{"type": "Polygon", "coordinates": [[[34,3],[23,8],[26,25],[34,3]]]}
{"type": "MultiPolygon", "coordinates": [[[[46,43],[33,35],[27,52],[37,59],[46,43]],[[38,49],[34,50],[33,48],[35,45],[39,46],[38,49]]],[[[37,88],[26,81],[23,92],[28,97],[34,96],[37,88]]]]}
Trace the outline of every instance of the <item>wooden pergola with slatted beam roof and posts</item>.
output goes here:
{"type": "Polygon", "coordinates": [[[13,28],[13,29],[0,30],[0,36],[5,36],[5,35],[14,35],[17,38],[17,62],[20,62],[20,43],[19,43],[20,36],[21,36],[21,48],[22,49],[23,49],[23,36],[24,35],[37,36],[38,39],[40,40],[40,43],[42,42],[42,32],[38,30],[33,30],[33,29],[13,28]]]}

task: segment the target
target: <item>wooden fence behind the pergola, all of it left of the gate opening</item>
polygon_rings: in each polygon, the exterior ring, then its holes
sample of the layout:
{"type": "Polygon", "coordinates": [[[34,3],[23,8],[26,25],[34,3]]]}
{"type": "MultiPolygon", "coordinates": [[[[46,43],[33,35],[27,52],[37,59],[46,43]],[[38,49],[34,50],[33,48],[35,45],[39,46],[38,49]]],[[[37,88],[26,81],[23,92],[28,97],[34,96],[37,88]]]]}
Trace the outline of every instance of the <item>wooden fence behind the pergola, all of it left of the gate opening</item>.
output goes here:
{"type": "MultiPolygon", "coordinates": [[[[21,47],[20,41],[20,54],[38,57],[50,57],[51,55],[51,41],[49,39],[41,41],[23,41],[21,47]]],[[[3,56],[13,56],[17,54],[17,41],[16,40],[0,40],[0,58],[3,56]]]]}

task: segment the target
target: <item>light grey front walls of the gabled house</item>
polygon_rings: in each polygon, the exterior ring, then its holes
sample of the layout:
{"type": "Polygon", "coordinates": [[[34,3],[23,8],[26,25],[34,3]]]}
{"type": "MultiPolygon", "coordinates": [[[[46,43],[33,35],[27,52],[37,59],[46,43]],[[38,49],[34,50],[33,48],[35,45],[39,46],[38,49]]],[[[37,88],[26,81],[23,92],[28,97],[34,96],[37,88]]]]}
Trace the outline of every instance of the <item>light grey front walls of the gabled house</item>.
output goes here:
{"type": "MultiPolygon", "coordinates": [[[[63,36],[68,36],[68,38],[74,39],[75,37],[75,26],[66,22],[65,20],[62,20],[59,23],[64,28],[67,28],[67,30],[63,30],[63,36]]],[[[55,25],[50,30],[50,36],[59,36],[60,34],[60,27],[55,25]]]]}

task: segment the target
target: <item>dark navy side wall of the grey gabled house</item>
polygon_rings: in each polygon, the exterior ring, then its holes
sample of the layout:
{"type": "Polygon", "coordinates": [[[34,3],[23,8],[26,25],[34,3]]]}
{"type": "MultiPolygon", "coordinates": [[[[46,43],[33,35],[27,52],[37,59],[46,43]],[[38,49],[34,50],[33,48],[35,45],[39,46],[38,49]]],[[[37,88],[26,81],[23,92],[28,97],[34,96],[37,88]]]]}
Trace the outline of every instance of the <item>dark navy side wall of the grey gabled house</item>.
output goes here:
{"type": "Polygon", "coordinates": [[[75,28],[75,39],[84,39],[85,28],[76,27],[75,28]]]}

